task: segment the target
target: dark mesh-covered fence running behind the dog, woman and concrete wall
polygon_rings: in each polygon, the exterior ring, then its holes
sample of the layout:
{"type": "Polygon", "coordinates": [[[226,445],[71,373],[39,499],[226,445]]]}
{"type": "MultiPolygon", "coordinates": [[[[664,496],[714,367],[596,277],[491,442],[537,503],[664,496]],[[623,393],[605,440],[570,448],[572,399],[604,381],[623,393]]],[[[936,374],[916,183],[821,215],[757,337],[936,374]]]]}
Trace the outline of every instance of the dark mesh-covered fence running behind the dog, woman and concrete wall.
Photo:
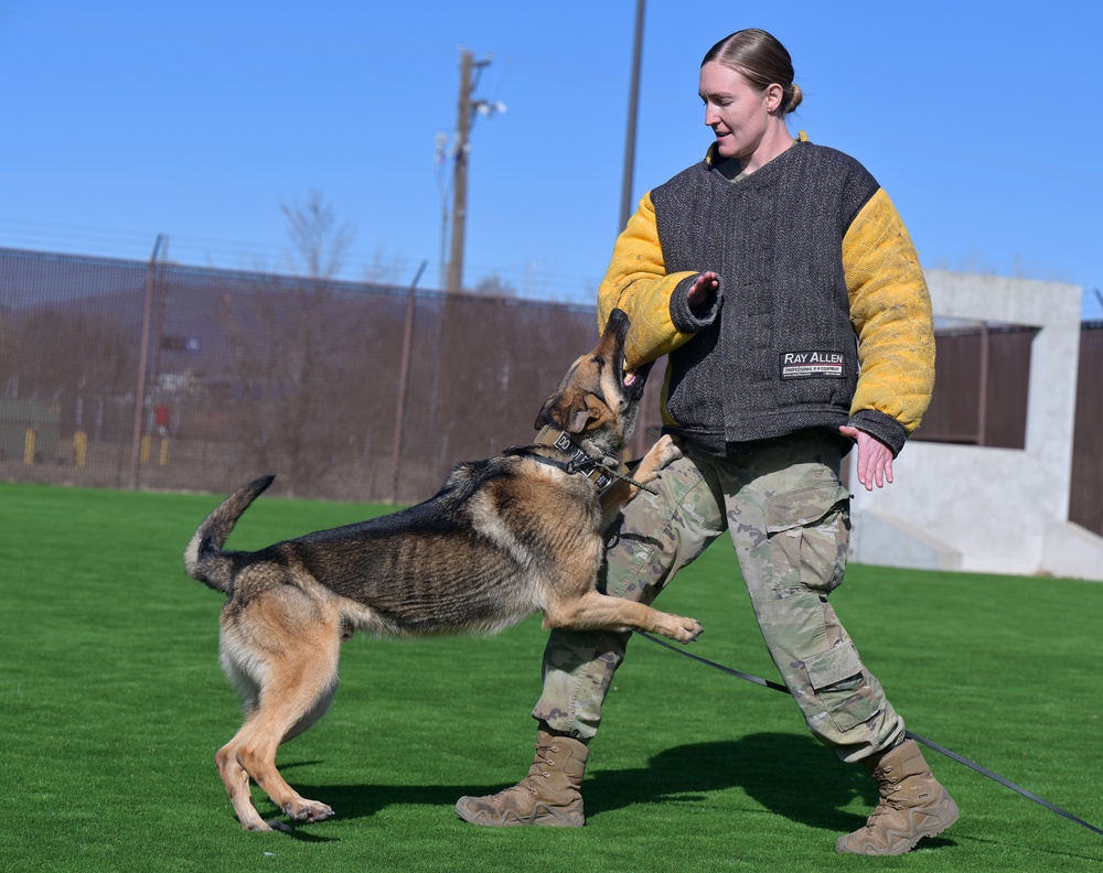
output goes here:
{"type": "MultiPolygon", "coordinates": [[[[940,332],[917,438],[1021,449],[1032,335],[940,332]]],[[[528,441],[596,341],[592,306],[0,249],[0,477],[224,493],[276,473],[277,494],[416,503],[528,441]]],[[[1101,371],[1088,323],[1070,518],[1097,534],[1101,371]]]]}

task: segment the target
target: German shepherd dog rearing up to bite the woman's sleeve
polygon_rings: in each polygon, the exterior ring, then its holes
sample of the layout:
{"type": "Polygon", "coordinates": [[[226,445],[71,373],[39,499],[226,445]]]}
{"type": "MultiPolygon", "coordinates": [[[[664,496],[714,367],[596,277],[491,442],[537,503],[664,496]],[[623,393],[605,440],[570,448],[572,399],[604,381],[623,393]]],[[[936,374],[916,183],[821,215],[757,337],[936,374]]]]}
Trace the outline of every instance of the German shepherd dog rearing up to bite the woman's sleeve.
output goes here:
{"type": "Polygon", "coordinates": [[[200,525],[184,565],[228,597],[222,666],[243,698],[245,723],[215,761],[243,828],[288,829],[258,815],[250,777],[295,821],[333,815],[283,780],[276,751],[325,713],[341,643],[354,630],[491,634],[539,611],[546,628],[630,627],[679,643],[697,638],[702,627],[693,618],[597,589],[602,532],[638,483],[653,481],[681,454],[664,436],[634,481],[618,478],[604,491],[600,476],[587,473],[613,470],[635,425],[647,374],[624,371],[628,330],[628,316],[614,311],[597,348],[575,362],[545,403],[536,443],[458,464],[422,504],[260,551],[224,551],[237,519],[271,484],[265,476],[200,525]]]}

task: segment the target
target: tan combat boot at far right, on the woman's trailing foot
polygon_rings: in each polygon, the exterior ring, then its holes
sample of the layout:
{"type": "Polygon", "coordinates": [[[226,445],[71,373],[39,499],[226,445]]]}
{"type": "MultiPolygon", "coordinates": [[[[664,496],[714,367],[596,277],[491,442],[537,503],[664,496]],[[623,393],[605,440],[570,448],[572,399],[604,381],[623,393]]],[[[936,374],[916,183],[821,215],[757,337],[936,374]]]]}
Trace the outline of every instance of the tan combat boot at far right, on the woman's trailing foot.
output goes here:
{"type": "Polygon", "coordinates": [[[957,821],[957,804],[935,780],[914,740],[861,763],[877,779],[881,801],[864,828],[838,838],[836,851],[903,854],[957,821]]]}

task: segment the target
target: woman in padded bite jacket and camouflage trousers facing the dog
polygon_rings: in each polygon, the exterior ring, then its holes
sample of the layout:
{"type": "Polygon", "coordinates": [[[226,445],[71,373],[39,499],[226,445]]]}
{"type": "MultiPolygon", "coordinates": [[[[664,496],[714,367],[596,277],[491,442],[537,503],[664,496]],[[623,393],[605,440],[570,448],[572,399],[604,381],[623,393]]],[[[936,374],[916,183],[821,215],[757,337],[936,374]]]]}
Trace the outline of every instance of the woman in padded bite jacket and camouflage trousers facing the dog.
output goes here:
{"type": "MultiPolygon", "coordinates": [[[[668,355],[664,430],[683,441],[660,494],[624,510],[609,594],[650,603],[729,530],[770,654],[813,735],[863,764],[881,802],[839,852],[900,854],[957,819],[903,720],[828,603],[849,531],[842,455],[867,489],[933,387],[931,304],[908,231],[853,158],[790,134],[789,53],[745,30],[705,55],[703,162],[649,192],[598,292],[599,322],[632,320],[629,367],[668,355]]],[[[479,824],[580,826],[587,743],[627,634],[556,632],[544,657],[537,752],[518,785],[461,798],[479,824]]]]}

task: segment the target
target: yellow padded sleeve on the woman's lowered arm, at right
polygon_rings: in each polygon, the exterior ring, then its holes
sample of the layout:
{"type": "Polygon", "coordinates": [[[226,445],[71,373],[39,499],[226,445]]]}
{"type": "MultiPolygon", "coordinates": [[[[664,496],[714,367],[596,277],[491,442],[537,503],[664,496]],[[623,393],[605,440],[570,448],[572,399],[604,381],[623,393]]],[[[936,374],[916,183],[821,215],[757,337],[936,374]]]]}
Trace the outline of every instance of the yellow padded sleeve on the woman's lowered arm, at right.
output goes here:
{"type": "Polygon", "coordinates": [[[850,414],[872,409],[910,434],[934,388],[934,322],[919,256],[884,188],[843,239],[860,373],[850,414]]]}

